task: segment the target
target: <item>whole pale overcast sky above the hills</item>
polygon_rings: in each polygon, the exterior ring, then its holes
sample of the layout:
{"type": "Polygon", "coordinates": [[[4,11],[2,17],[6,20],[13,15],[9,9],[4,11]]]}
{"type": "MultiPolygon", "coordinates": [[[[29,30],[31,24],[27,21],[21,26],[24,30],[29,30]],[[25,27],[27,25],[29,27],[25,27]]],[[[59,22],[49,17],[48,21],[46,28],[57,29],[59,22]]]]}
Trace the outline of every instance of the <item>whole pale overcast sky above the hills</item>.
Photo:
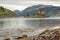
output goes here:
{"type": "Polygon", "coordinates": [[[18,9],[20,11],[37,4],[60,6],[60,0],[0,0],[0,5],[11,10],[18,9]]]}

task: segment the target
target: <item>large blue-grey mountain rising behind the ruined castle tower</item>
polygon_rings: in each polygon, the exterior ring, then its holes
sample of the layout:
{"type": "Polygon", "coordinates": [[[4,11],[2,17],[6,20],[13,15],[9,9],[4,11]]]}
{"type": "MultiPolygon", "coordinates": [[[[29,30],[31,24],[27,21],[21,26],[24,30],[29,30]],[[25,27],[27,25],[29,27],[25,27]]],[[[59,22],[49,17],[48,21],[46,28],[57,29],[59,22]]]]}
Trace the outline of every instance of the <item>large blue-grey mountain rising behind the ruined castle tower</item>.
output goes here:
{"type": "MultiPolygon", "coordinates": [[[[22,16],[27,16],[28,17],[33,16],[33,14],[38,14],[39,13],[39,8],[45,8],[45,12],[48,13],[48,16],[60,16],[60,7],[57,6],[51,6],[51,5],[34,5],[34,6],[30,6],[28,8],[26,8],[25,10],[23,10],[20,15],[22,16]]],[[[36,16],[37,17],[37,16],[36,16]]]]}

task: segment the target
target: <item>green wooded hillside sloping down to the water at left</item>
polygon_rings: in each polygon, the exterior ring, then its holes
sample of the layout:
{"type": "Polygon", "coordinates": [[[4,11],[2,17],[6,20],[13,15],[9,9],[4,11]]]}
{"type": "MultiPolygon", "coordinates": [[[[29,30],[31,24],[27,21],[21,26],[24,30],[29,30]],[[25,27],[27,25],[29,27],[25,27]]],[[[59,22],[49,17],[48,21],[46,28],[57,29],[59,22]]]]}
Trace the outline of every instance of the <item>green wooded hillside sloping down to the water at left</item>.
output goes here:
{"type": "Polygon", "coordinates": [[[0,18],[17,17],[17,14],[6,8],[0,7],[0,18]]]}

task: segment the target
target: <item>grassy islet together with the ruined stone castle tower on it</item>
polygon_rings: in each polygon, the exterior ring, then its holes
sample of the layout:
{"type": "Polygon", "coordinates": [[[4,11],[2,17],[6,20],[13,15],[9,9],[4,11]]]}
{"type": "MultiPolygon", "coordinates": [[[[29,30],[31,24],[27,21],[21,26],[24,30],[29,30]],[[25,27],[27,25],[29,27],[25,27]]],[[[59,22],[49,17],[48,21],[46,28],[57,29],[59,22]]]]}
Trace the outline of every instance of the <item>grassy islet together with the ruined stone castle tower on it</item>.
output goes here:
{"type": "Polygon", "coordinates": [[[28,15],[26,17],[30,18],[45,18],[48,17],[48,13],[45,11],[45,8],[39,8],[39,13],[28,15]]]}

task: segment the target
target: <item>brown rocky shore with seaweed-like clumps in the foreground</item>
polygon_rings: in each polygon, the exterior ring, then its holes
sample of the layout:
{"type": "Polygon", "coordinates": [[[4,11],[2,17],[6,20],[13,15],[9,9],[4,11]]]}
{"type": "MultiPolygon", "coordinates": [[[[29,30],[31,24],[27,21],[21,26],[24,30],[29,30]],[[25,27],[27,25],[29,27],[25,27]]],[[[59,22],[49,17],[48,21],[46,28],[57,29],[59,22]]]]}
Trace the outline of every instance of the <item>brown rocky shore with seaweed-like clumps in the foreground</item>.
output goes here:
{"type": "MultiPolygon", "coordinates": [[[[4,40],[10,40],[10,38],[7,37],[4,40]]],[[[60,40],[60,28],[54,30],[45,30],[38,35],[23,35],[20,37],[15,37],[14,40],[60,40]]]]}

